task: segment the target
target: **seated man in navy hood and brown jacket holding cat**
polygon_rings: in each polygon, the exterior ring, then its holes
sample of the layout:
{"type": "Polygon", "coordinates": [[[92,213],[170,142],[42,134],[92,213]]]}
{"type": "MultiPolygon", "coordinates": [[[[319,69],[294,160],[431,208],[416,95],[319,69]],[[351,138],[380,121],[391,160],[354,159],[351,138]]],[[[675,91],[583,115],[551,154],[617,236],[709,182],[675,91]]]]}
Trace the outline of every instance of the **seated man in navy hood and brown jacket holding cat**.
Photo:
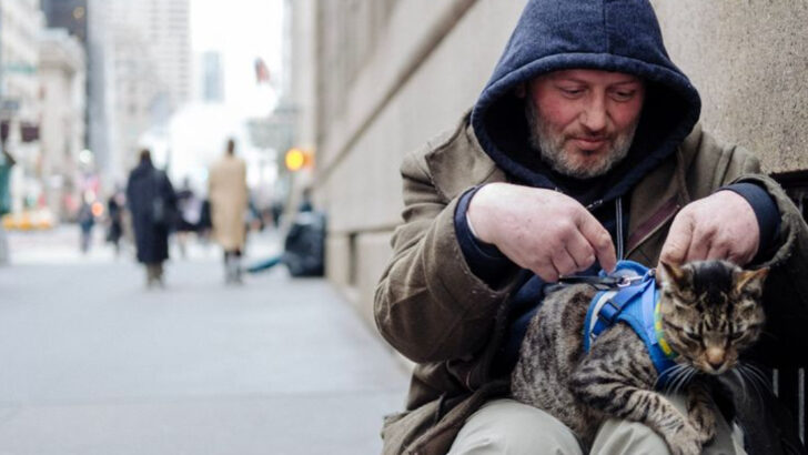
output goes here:
{"type": "MultiPolygon", "coordinates": [[[[471,115],[402,165],[405,222],[375,317],[416,366],[385,454],[668,453],[617,419],[580,447],[505,398],[545,284],[618,259],[770,266],[767,330],[808,348],[808,230],[755,158],[696,125],[699,110],[646,0],[527,3],[471,115]]],[[[754,421],[766,414],[734,405],[747,446],[776,453],[754,421]]],[[[706,453],[744,453],[724,418],[718,433],[706,453]]]]}

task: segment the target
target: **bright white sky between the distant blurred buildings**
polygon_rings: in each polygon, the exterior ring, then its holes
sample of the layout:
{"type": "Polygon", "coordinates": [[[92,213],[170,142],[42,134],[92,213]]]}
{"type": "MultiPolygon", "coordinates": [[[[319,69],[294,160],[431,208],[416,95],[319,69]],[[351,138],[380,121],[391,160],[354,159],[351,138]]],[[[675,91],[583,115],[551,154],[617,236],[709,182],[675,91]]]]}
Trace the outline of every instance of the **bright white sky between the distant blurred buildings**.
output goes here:
{"type": "Polygon", "coordinates": [[[194,101],[176,112],[170,125],[171,176],[179,186],[189,176],[195,190],[204,189],[206,170],[235,138],[236,153],[248,160],[251,186],[271,186],[276,175],[274,151],[250,144],[244,120],[267,117],[276,102],[273,87],[259,85],[254,61],[270,68],[271,85],[281,73],[282,0],[190,0],[194,101]],[[200,59],[220,52],[224,75],[224,103],[200,100],[200,59]]]}

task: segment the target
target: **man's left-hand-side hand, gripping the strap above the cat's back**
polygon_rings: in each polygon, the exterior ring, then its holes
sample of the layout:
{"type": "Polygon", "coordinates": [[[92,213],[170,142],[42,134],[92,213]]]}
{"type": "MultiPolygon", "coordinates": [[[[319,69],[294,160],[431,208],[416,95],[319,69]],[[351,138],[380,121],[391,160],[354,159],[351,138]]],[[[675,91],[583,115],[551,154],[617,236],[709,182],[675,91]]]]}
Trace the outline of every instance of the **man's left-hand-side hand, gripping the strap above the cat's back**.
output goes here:
{"type": "Polygon", "coordinates": [[[615,267],[608,231],[577,201],[556,191],[491,183],[474,195],[467,215],[481,241],[545,282],[586,270],[595,259],[607,271],[615,267]]]}

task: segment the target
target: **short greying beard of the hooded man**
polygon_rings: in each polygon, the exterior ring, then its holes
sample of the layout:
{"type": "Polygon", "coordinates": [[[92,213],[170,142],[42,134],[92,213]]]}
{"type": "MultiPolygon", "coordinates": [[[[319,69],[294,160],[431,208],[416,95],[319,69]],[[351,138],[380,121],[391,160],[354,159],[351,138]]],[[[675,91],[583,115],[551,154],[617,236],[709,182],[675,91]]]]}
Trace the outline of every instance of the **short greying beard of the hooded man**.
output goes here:
{"type": "Polygon", "coordinates": [[[630,125],[629,130],[614,138],[610,149],[594,163],[575,163],[574,156],[564,150],[564,143],[568,139],[564,133],[556,134],[551,131],[551,125],[538,112],[536,105],[528,97],[525,100],[525,113],[529,128],[531,145],[538,151],[549,168],[559,174],[576,179],[590,179],[606,174],[628,154],[634,141],[634,133],[637,131],[639,115],[630,125]]]}

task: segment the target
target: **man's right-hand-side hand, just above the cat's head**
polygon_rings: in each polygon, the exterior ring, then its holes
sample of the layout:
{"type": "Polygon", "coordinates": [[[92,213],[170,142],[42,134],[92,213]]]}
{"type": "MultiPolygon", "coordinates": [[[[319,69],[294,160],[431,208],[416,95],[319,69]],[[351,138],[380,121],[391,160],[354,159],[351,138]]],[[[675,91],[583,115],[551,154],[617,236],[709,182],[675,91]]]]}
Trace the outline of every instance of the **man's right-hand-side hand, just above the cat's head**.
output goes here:
{"type": "Polygon", "coordinates": [[[760,228],[751,205],[733,191],[687,204],[674,219],[660,261],[723,259],[745,265],[757,254],[760,228]]]}

